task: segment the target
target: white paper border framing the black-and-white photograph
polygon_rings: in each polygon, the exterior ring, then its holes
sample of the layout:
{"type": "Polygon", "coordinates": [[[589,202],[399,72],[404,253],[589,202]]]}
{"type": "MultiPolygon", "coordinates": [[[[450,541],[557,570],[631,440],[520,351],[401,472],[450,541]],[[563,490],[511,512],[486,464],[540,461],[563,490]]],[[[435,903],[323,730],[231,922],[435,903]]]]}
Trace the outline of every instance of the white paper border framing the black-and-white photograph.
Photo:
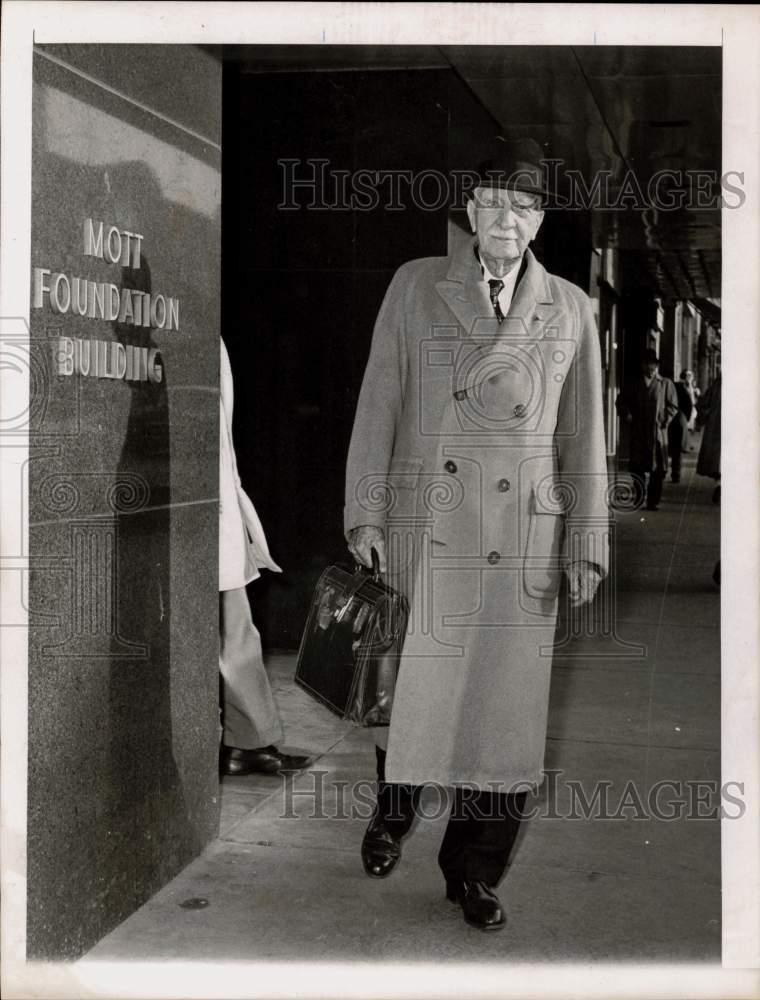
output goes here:
{"type": "MultiPolygon", "coordinates": [[[[715,4],[3,3],[0,323],[29,319],[32,45],[163,44],[684,45],[723,49],[724,171],[746,202],[723,213],[722,769],[744,782],[746,812],[722,829],[723,969],[704,966],[302,966],[35,964],[23,955],[26,841],[26,635],[0,629],[2,944],[8,997],[749,997],[760,966],[758,428],[760,428],[760,8],[715,4]],[[568,11],[571,8],[571,11],[568,11]],[[571,14],[571,16],[568,16],[571,14]],[[623,972],[624,970],[624,972],[623,972]],[[329,984],[329,986],[327,985],[329,984]],[[378,984],[378,991],[373,991],[378,984]]],[[[0,419],[28,403],[4,377],[0,419]]],[[[0,423],[0,426],[2,424],[0,423]]],[[[0,447],[3,492],[7,463],[0,447]]],[[[9,532],[4,525],[4,545],[9,532]]],[[[0,620],[8,595],[0,591],[0,620]]]]}

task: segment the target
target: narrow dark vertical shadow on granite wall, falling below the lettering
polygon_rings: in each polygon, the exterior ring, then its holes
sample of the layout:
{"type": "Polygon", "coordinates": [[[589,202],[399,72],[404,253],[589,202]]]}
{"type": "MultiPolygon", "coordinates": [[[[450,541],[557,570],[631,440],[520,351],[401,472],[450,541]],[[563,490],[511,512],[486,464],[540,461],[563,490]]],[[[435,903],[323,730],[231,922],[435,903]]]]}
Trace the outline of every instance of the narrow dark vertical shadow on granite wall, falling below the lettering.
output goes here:
{"type": "MultiPolygon", "coordinates": [[[[151,292],[148,255],[139,269],[122,269],[122,288],[151,292]]],[[[154,350],[148,327],[113,324],[117,340],[154,350]]],[[[160,354],[158,355],[160,358],[160,354]]],[[[109,662],[110,781],[107,811],[114,816],[107,850],[98,852],[102,877],[131,874],[120,904],[132,912],[204,846],[188,809],[174,759],[172,720],[171,425],[170,373],[161,382],[128,382],[130,406],[113,485],[116,496],[118,622],[139,637],[146,656],[121,659],[114,633],[109,662]],[[162,815],[171,817],[163,822],[162,815]],[[110,857],[109,857],[110,855],[110,857]]]]}

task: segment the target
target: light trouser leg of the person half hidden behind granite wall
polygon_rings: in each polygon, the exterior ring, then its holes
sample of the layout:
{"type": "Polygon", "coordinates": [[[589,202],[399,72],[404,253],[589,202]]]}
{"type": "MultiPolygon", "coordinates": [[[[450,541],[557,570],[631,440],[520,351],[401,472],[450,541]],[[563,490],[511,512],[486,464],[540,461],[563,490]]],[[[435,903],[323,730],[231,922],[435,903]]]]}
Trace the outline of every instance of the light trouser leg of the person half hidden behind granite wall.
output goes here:
{"type": "Polygon", "coordinates": [[[219,670],[222,675],[223,737],[227,747],[252,750],[282,739],[282,723],[272,695],[251,619],[245,587],[219,594],[219,670]]]}

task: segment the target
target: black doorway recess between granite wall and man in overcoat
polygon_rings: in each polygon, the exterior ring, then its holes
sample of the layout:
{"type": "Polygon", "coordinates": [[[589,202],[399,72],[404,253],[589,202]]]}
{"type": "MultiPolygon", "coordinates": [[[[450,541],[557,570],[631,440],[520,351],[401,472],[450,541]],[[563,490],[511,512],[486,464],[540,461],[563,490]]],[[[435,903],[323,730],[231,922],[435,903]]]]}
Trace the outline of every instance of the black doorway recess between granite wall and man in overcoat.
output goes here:
{"type": "Polygon", "coordinates": [[[407,191],[397,199],[403,207],[390,208],[388,176],[375,180],[375,207],[344,208],[335,178],[357,170],[445,174],[452,115],[463,101],[475,103],[450,68],[430,65],[441,62],[434,50],[418,54],[419,69],[358,68],[363,60],[382,66],[377,50],[351,58],[354,68],[323,72],[273,70],[264,61],[269,49],[260,61],[250,49],[225,61],[222,331],[241,479],[283,569],[281,577],[264,574],[250,593],[270,648],[297,647],[319,574],[348,559],[345,459],[393,273],[447,251],[445,206],[415,207],[407,191]],[[289,170],[299,180],[315,176],[314,187],[284,193],[289,170]],[[299,207],[281,207],[289,199],[299,207]],[[306,207],[312,201],[318,207],[306,207]]]}

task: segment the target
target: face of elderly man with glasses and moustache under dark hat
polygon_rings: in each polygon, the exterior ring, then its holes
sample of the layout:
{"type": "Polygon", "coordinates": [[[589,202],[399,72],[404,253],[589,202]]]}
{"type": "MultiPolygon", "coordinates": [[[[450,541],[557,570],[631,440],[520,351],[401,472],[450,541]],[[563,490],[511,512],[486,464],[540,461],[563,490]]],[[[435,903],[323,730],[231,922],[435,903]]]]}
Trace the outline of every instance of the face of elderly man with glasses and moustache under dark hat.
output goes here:
{"type": "Polygon", "coordinates": [[[535,239],[544,213],[536,195],[502,188],[475,188],[467,216],[481,253],[500,261],[516,261],[535,239]]]}

